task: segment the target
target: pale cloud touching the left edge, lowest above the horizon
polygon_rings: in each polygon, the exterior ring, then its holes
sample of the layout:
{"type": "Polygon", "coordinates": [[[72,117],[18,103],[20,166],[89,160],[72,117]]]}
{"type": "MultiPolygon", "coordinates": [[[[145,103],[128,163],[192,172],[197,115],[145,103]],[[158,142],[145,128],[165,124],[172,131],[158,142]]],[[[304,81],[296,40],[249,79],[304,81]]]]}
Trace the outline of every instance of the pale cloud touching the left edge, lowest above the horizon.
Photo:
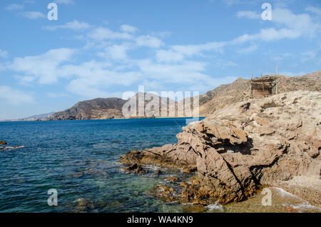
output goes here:
{"type": "Polygon", "coordinates": [[[9,104],[29,104],[34,102],[34,97],[23,91],[12,89],[10,86],[0,86],[0,99],[4,99],[9,104]]]}

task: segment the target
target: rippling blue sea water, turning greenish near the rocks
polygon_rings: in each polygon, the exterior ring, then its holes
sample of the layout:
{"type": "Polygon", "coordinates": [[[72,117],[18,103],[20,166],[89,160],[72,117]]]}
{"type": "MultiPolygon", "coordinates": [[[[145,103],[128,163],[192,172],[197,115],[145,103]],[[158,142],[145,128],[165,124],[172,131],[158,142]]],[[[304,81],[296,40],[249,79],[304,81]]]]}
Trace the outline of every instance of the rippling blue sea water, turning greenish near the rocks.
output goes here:
{"type": "Polygon", "coordinates": [[[159,201],[149,191],[179,170],[158,178],[124,173],[119,157],[133,149],[176,143],[186,118],[0,122],[0,212],[175,212],[180,204],[159,201]],[[58,206],[49,206],[50,188],[58,206]]]}

